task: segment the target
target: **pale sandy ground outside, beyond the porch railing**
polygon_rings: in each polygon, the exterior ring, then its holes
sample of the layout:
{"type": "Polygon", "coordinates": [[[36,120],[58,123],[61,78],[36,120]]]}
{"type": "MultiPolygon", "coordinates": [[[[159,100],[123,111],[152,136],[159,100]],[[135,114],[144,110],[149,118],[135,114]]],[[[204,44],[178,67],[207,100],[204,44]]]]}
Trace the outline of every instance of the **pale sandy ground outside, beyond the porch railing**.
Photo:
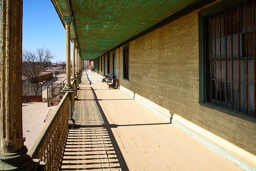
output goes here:
{"type": "MultiPolygon", "coordinates": [[[[65,74],[57,76],[58,80],[55,83],[60,83],[66,79],[65,74]]],[[[24,145],[28,149],[32,146],[44,125],[48,121],[50,115],[54,112],[57,106],[47,107],[47,90],[42,87],[43,102],[28,102],[22,103],[22,123],[23,137],[26,137],[24,145]]]]}

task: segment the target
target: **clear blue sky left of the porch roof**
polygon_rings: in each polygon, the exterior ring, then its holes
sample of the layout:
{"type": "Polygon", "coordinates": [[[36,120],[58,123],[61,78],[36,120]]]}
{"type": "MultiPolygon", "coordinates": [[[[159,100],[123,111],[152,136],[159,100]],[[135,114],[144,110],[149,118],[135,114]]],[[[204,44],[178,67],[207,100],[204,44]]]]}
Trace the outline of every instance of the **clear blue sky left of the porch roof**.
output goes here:
{"type": "Polygon", "coordinates": [[[66,61],[65,34],[50,0],[23,0],[22,49],[35,51],[44,46],[56,56],[52,62],[66,61]]]}

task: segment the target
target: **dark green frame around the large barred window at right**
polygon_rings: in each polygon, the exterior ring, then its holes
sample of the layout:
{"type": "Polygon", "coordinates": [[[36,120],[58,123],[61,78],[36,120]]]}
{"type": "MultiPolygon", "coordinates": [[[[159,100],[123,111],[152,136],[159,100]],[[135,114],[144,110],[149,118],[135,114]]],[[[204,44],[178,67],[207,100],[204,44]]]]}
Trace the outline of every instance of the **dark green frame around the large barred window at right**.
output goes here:
{"type": "Polygon", "coordinates": [[[241,0],[225,0],[198,12],[198,40],[199,40],[199,102],[198,103],[200,103],[200,105],[209,107],[211,109],[215,109],[223,113],[233,115],[241,119],[245,119],[245,120],[256,123],[256,118],[253,115],[247,115],[242,112],[238,112],[232,109],[227,109],[225,107],[217,106],[207,102],[207,93],[209,93],[207,85],[210,83],[209,80],[211,78],[208,77],[208,72],[206,70],[206,68],[208,67],[208,59],[206,58],[206,53],[208,53],[207,51],[208,47],[206,47],[207,42],[205,39],[207,35],[207,29],[204,28],[206,24],[205,17],[208,16],[209,14],[229,8],[230,6],[234,6],[241,2],[244,2],[244,0],[242,1],[241,0]]]}

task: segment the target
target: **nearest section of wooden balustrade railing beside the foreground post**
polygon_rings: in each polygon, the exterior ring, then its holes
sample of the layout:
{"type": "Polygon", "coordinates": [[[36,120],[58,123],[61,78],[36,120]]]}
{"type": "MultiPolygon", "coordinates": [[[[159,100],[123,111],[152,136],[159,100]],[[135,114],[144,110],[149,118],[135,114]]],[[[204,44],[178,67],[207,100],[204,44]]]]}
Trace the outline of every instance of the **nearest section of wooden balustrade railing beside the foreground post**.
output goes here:
{"type": "Polygon", "coordinates": [[[28,151],[32,159],[46,162],[45,170],[60,170],[64,146],[68,135],[68,116],[70,100],[65,93],[58,108],[52,113],[49,121],[28,151]]]}

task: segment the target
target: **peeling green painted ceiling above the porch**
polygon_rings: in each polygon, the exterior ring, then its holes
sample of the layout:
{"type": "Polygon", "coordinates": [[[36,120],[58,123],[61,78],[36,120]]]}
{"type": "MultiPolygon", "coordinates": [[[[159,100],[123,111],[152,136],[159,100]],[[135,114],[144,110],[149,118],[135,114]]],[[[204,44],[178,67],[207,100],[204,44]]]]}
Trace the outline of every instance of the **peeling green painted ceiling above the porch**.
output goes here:
{"type": "Polygon", "coordinates": [[[78,38],[83,60],[93,60],[195,1],[52,0],[52,3],[61,20],[63,16],[73,16],[71,38],[78,38]]]}

